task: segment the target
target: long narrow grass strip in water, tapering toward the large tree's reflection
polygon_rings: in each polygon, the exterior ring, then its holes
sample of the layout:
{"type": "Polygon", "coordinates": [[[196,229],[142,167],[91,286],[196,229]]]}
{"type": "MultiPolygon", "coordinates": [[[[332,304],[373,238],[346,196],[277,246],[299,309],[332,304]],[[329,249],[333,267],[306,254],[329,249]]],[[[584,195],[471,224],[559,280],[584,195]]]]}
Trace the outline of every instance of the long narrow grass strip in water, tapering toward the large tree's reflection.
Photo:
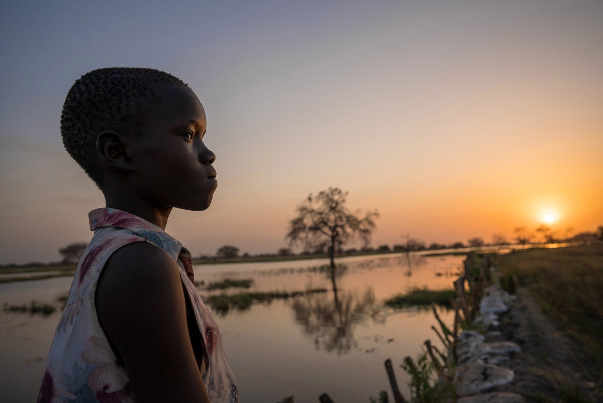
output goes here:
{"type": "Polygon", "coordinates": [[[204,297],[203,300],[212,307],[214,311],[219,314],[226,314],[230,309],[237,311],[245,311],[250,308],[253,303],[259,302],[272,302],[275,299],[289,299],[298,296],[326,293],[327,290],[324,288],[316,288],[314,290],[306,291],[293,291],[291,293],[287,291],[271,291],[267,293],[238,293],[238,294],[220,294],[209,297],[204,297]]]}

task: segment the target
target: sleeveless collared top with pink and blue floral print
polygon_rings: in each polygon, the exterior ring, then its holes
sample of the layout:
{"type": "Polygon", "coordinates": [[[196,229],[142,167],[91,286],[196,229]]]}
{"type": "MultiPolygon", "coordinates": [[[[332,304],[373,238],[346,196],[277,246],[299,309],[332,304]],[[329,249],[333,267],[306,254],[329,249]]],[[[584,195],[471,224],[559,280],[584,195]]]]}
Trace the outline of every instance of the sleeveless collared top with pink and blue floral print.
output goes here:
{"type": "Polygon", "coordinates": [[[162,229],[136,215],[110,208],[90,212],[94,231],[69,291],[50,347],[38,403],[134,403],[136,397],[124,367],[96,316],[95,293],[109,256],[133,242],[152,243],[168,252],[180,267],[180,278],[203,341],[203,382],[212,403],[237,403],[235,378],[224,355],[218,325],[194,284],[191,253],[162,229]]]}

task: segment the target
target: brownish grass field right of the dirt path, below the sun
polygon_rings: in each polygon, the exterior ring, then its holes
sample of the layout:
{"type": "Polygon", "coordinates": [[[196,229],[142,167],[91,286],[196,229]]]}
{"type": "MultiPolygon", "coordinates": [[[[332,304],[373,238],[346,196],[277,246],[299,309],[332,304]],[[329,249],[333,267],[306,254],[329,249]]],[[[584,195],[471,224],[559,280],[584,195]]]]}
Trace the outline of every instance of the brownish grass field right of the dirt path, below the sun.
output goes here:
{"type": "Polygon", "coordinates": [[[603,243],[528,249],[494,258],[511,287],[524,287],[560,328],[603,366],[603,243]]]}

